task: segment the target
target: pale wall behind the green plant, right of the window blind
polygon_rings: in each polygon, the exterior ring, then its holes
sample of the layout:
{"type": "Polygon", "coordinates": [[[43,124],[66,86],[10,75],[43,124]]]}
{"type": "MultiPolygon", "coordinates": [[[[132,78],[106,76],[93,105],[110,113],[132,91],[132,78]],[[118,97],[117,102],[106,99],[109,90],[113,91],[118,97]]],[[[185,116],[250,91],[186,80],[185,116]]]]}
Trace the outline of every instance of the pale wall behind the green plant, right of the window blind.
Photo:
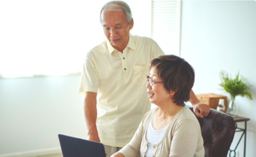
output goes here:
{"type": "MultiPolygon", "coordinates": [[[[256,1],[183,0],[181,57],[195,69],[196,94],[223,94],[218,90],[219,72],[248,78],[253,100],[237,97],[238,115],[248,124],[247,156],[256,156],[256,1]]],[[[238,123],[239,124],[239,123],[238,123]]],[[[243,123],[239,124],[243,127],[243,123]]],[[[236,133],[234,141],[238,141],[236,133]]],[[[235,147],[232,143],[232,148],[235,147]]],[[[243,153],[243,141],[238,146],[243,153]]]]}

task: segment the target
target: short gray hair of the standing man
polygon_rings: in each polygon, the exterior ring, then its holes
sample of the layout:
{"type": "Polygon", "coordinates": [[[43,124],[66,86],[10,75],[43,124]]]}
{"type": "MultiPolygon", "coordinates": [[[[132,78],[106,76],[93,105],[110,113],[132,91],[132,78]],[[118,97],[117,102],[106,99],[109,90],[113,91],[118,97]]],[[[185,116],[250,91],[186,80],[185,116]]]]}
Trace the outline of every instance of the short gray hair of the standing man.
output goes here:
{"type": "Polygon", "coordinates": [[[127,5],[127,3],[123,2],[123,1],[110,1],[110,2],[106,3],[105,5],[103,5],[103,7],[100,10],[100,24],[101,25],[102,25],[101,14],[102,14],[103,10],[104,11],[123,10],[125,19],[128,22],[128,24],[130,24],[130,21],[132,19],[132,11],[131,11],[129,5],[127,5]]]}

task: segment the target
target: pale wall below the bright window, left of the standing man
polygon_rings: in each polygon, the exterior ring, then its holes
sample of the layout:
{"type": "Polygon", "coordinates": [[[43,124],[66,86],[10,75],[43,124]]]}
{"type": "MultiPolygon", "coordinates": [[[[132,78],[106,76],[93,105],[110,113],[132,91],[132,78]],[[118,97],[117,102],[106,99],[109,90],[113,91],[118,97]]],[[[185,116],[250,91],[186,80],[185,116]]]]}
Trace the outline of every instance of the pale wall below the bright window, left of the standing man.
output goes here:
{"type": "Polygon", "coordinates": [[[57,134],[86,138],[79,81],[79,75],[0,79],[0,156],[57,150],[57,134]]]}

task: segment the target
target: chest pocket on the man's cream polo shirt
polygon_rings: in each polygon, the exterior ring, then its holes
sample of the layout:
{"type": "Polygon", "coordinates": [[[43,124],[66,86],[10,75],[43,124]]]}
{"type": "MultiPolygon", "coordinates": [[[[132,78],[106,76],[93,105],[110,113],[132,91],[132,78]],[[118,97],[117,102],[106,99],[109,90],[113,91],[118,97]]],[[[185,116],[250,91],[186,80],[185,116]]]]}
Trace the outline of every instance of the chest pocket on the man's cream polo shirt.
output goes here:
{"type": "Polygon", "coordinates": [[[148,66],[133,66],[133,83],[136,85],[146,85],[146,75],[148,74],[148,66]]]}

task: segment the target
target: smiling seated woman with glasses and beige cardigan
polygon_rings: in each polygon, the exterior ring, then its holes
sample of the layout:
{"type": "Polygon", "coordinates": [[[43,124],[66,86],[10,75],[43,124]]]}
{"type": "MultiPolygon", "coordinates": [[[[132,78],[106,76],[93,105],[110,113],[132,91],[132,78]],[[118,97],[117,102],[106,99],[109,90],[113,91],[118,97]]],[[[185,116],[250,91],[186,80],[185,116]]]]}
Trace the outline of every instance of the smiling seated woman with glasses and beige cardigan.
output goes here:
{"type": "Polygon", "coordinates": [[[194,71],[174,55],[154,58],[147,76],[147,93],[157,108],[147,112],[132,140],[111,157],[204,156],[199,122],[184,102],[189,101],[194,71]]]}

